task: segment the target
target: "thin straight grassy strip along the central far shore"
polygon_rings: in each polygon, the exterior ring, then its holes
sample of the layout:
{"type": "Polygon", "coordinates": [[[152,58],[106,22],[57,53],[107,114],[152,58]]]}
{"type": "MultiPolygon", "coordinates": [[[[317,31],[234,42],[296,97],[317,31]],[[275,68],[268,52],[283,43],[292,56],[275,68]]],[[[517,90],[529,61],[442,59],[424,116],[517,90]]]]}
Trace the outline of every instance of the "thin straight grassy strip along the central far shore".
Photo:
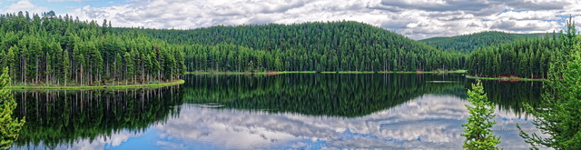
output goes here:
{"type": "MultiPolygon", "coordinates": [[[[429,72],[370,72],[370,71],[340,71],[340,72],[319,72],[320,74],[462,74],[466,70],[456,71],[429,71],[429,72]]],[[[281,72],[187,72],[189,75],[281,75],[281,74],[317,74],[316,71],[281,71],[281,72]]]]}

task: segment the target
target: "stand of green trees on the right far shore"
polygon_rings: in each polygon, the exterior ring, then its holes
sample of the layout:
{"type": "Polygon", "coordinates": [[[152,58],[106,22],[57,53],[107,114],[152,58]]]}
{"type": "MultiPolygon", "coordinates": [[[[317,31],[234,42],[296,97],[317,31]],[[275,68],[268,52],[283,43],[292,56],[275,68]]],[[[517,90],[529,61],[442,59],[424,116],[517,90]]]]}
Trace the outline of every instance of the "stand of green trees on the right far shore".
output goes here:
{"type": "Polygon", "coordinates": [[[478,48],[467,59],[466,69],[475,76],[546,78],[550,58],[562,47],[562,39],[517,39],[512,43],[478,48]]]}

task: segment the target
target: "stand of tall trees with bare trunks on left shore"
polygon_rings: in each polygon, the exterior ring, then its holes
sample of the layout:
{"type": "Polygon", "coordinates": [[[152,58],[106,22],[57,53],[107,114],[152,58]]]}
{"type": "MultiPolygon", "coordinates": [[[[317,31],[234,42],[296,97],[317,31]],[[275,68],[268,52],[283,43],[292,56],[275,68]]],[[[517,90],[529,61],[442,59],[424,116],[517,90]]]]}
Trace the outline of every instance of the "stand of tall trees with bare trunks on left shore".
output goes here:
{"type": "Polygon", "coordinates": [[[0,67],[12,85],[127,85],[183,74],[183,46],[73,16],[0,15],[0,67]]]}

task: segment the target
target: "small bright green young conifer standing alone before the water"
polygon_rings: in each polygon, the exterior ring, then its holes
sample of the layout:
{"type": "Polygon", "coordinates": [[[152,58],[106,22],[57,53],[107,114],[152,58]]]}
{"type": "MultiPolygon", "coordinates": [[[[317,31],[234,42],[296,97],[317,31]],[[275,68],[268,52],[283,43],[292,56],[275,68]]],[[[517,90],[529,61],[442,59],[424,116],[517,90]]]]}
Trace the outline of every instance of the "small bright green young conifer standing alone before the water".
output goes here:
{"type": "Polygon", "coordinates": [[[467,118],[468,123],[462,125],[465,133],[462,135],[466,137],[463,147],[465,149],[498,149],[500,137],[492,135],[490,129],[497,123],[490,121],[495,116],[493,115],[495,105],[491,105],[488,101],[480,80],[476,85],[472,85],[471,90],[468,90],[468,102],[474,106],[466,105],[470,115],[467,118]]]}

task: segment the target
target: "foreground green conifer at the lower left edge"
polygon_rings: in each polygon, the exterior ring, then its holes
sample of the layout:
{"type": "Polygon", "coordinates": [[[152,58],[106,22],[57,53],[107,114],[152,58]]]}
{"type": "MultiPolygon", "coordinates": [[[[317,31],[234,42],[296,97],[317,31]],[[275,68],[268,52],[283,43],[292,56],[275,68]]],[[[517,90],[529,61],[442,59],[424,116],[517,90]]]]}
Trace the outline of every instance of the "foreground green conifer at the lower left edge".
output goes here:
{"type": "Polygon", "coordinates": [[[5,85],[10,83],[8,76],[8,67],[0,75],[0,149],[9,149],[12,143],[18,139],[18,132],[25,125],[25,117],[18,121],[12,118],[13,111],[16,108],[14,95],[10,90],[5,89],[5,85]]]}

